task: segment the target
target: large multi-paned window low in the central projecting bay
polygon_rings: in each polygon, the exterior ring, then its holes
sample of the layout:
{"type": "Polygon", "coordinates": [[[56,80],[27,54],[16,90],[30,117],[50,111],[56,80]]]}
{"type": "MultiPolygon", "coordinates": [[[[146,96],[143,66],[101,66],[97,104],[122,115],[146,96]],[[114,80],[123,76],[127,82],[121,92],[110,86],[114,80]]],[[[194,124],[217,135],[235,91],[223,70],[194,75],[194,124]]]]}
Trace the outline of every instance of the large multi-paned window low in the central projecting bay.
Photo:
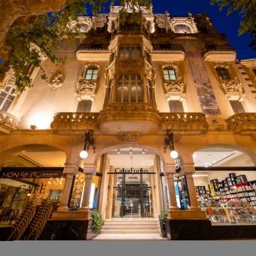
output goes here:
{"type": "Polygon", "coordinates": [[[116,102],[143,102],[142,80],[139,75],[121,75],[117,83],[116,102]]]}

